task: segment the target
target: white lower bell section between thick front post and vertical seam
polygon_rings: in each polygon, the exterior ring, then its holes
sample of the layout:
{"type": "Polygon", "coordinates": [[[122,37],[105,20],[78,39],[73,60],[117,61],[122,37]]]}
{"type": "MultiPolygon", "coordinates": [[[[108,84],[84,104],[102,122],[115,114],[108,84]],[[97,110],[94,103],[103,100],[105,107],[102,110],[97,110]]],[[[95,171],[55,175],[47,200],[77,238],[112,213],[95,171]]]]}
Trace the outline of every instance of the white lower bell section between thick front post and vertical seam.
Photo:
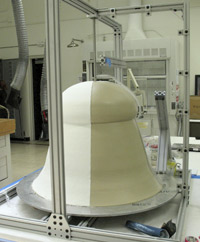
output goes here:
{"type": "Polygon", "coordinates": [[[90,206],[91,125],[64,125],[66,200],[68,204],[90,206]]]}

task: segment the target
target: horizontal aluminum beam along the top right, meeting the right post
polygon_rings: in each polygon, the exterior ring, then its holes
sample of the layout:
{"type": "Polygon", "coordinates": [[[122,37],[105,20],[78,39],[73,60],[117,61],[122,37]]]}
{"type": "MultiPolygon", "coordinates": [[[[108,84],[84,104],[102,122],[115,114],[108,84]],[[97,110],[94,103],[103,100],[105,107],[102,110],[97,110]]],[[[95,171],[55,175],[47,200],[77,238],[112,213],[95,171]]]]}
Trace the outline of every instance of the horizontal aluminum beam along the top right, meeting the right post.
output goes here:
{"type": "Polygon", "coordinates": [[[162,11],[182,11],[184,9],[183,3],[174,4],[160,4],[160,5],[143,5],[143,6],[127,6],[119,8],[103,8],[98,9],[99,16],[107,15],[122,15],[134,13],[147,13],[147,12],[162,12],[162,11]]]}

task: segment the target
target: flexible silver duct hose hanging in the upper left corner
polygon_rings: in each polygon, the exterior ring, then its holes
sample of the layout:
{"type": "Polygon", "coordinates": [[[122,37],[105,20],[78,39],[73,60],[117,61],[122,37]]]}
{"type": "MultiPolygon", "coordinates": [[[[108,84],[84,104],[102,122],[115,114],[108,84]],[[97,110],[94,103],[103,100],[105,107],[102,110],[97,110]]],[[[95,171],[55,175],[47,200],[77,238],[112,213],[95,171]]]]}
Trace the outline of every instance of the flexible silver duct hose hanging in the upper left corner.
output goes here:
{"type": "Polygon", "coordinates": [[[12,7],[16,25],[17,40],[19,46],[19,60],[14,79],[10,84],[11,88],[21,90],[28,67],[28,37],[24,18],[22,0],[12,0],[12,7]]]}

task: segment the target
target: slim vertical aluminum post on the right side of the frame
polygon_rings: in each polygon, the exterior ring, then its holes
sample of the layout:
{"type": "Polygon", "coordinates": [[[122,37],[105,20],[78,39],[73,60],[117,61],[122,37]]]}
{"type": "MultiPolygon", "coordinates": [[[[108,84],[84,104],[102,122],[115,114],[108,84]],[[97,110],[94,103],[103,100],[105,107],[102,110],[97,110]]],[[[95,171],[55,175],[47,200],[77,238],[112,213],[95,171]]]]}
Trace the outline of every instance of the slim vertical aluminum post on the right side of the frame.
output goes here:
{"type": "Polygon", "coordinates": [[[184,112],[183,112],[183,196],[188,199],[189,105],[190,105],[190,1],[184,0],[184,112]]]}

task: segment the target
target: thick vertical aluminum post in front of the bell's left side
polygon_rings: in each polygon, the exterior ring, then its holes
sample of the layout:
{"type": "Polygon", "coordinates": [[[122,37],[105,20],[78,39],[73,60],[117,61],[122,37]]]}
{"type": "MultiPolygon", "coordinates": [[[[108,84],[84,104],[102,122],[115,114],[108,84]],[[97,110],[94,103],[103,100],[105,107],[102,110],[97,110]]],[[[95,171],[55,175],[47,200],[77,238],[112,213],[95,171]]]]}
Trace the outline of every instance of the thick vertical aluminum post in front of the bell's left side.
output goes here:
{"type": "Polygon", "coordinates": [[[66,216],[59,0],[47,0],[46,6],[52,212],[66,216]]]}

